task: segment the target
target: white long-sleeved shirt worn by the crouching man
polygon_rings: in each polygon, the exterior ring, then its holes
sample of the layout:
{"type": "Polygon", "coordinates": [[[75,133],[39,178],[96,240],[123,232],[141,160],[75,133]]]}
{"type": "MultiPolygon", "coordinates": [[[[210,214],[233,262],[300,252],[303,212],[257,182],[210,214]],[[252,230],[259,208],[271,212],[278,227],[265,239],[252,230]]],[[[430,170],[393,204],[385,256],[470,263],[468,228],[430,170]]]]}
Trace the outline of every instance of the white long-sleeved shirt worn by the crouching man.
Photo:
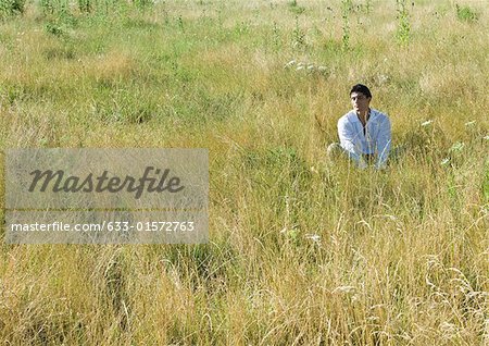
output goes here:
{"type": "Polygon", "coordinates": [[[384,168],[390,150],[390,121],[389,118],[371,109],[371,115],[363,125],[355,111],[351,110],[338,121],[338,136],[341,147],[360,168],[366,168],[363,155],[377,155],[377,169],[384,168]]]}

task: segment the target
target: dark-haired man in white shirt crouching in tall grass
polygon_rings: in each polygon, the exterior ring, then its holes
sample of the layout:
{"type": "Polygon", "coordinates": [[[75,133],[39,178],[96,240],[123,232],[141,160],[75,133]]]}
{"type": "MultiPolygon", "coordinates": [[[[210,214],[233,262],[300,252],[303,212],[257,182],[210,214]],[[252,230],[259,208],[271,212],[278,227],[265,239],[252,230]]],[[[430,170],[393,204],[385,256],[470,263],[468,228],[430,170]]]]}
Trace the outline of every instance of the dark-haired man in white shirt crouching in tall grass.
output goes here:
{"type": "Polygon", "coordinates": [[[327,153],[330,157],[342,152],[361,169],[365,169],[368,163],[383,169],[391,145],[389,118],[369,108],[372,94],[362,84],[352,87],[350,99],[353,110],[338,121],[340,144],[329,145],[327,153]]]}

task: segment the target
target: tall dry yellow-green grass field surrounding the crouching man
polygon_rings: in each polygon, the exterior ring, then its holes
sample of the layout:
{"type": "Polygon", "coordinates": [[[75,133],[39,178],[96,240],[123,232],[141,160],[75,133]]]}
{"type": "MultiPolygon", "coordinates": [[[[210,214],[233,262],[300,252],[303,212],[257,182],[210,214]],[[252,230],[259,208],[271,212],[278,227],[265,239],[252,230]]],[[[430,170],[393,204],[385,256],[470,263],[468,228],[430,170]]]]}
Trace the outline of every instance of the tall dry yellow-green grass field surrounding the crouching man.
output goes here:
{"type": "Polygon", "coordinates": [[[211,239],[1,240],[1,344],[489,343],[485,1],[0,0],[0,148],[209,148],[211,239]],[[385,171],[325,160],[356,83],[406,148],[385,171]]]}

